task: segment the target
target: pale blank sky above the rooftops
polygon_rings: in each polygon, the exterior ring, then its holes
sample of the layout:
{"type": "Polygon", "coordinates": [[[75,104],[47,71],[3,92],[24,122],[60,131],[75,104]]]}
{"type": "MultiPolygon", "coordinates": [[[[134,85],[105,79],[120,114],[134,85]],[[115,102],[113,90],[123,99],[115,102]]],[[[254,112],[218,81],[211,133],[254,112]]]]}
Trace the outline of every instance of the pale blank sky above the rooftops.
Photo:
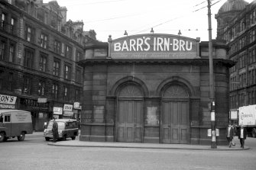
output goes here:
{"type": "MultiPolygon", "coordinates": [[[[51,0],[44,0],[44,3],[51,0]]],[[[228,0],[211,0],[212,39],[216,37],[215,14],[228,0]]],[[[245,0],[253,2],[254,0],[245,0]]],[[[67,21],[83,21],[83,30],[95,30],[107,42],[135,34],[177,35],[209,40],[207,0],[57,0],[67,8],[67,21]]]]}

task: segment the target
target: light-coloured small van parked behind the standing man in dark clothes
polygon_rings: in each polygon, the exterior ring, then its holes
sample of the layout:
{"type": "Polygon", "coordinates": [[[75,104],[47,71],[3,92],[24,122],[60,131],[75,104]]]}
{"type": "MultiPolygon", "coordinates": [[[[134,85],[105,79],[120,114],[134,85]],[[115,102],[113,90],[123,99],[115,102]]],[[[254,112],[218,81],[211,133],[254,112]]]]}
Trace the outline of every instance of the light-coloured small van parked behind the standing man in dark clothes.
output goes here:
{"type": "MultiPolygon", "coordinates": [[[[66,140],[66,138],[70,138],[72,140],[76,140],[76,136],[78,136],[78,122],[73,119],[56,119],[58,123],[58,140],[66,140]]],[[[53,120],[50,120],[47,123],[47,128],[44,130],[44,138],[49,141],[53,139],[53,120]]]]}

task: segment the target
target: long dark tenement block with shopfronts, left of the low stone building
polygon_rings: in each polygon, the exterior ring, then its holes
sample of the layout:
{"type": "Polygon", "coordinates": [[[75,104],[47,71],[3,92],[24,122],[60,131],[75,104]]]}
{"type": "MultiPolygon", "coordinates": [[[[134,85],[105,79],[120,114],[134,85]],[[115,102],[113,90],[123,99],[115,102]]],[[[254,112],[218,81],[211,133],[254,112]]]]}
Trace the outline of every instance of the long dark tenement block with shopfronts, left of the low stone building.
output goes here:
{"type": "Polygon", "coordinates": [[[34,130],[54,117],[79,118],[83,21],[66,21],[56,1],[0,2],[0,108],[31,111],[34,130]]]}

